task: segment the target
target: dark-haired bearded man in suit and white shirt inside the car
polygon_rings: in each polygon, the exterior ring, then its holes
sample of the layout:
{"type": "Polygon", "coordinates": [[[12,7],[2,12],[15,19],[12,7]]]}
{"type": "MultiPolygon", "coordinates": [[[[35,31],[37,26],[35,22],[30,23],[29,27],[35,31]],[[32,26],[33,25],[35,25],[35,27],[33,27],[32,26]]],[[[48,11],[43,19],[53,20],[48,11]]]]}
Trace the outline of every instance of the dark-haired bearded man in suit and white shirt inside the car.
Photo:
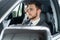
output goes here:
{"type": "MultiPolygon", "coordinates": [[[[25,8],[25,12],[26,12],[26,15],[28,16],[28,19],[31,22],[31,25],[33,25],[33,26],[35,26],[35,25],[36,26],[48,26],[40,18],[42,10],[41,10],[41,3],[39,1],[29,0],[28,2],[25,3],[25,5],[27,6],[25,8]]],[[[29,23],[27,23],[27,25],[29,25],[29,23]]]]}

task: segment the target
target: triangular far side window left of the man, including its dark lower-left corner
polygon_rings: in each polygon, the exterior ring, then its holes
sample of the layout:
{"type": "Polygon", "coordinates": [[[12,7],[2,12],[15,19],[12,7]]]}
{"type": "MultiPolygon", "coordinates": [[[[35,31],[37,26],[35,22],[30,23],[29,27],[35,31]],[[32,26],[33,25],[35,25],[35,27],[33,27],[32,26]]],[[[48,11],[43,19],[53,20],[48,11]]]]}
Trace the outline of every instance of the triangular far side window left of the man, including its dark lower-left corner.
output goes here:
{"type": "Polygon", "coordinates": [[[22,3],[18,4],[6,17],[7,20],[22,16],[22,3]]]}

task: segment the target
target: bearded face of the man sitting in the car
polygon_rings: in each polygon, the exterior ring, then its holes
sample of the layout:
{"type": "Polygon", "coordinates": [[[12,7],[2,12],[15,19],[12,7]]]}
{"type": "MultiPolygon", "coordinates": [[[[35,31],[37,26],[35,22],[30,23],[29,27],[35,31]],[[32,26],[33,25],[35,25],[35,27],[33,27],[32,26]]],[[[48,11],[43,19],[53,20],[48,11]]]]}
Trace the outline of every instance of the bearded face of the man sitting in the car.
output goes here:
{"type": "Polygon", "coordinates": [[[29,19],[33,19],[33,18],[37,17],[38,11],[39,10],[37,9],[37,7],[34,4],[29,4],[25,9],[25,12],[29,19]]]}

